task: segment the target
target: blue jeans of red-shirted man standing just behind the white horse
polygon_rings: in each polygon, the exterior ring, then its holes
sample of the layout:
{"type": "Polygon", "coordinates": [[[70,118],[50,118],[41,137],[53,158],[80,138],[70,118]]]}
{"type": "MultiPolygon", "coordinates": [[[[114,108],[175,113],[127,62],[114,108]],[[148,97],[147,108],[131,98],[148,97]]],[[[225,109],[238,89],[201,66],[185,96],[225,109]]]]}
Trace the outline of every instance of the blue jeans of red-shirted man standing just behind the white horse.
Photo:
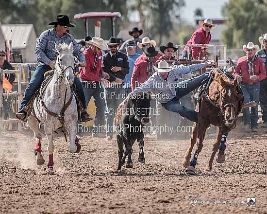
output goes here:
{"type": "Polygon", "coordinates": [[[80,81],[83,86],[86,107],[88,106],[92,96],[97,107],[93,125],[93,133],[97,134],[98,132],[101,132],[101,130],[99,130],[99,127],[103,125],[103,120],[105,116],[106,104],[104,100],[104,90],[100,82],[91,83],[88,81],[83,81],[81,79],[80,81]]]}

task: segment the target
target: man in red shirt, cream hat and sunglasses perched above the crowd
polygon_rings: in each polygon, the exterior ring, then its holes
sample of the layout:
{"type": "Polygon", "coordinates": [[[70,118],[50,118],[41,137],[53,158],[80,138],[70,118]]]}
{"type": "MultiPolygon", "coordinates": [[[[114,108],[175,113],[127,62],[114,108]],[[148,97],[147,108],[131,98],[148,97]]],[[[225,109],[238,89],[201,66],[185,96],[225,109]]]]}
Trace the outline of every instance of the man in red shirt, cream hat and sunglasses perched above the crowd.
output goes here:
{"type": "MultiPolygon", "coordinates": [[[[216,24],[213,24],[211,18],[206,18],[204,21],[199,21],[200,28],[196,30],[186,45],[197,45],[197,44],[209,44],[211,40],[210,30],[216,28],[216,24]]],[[[184,47],[184,52],[182,54],[183,58],[188,58],[187,56],[187,46],[184,47]]],[[[198,59],[198,54],[201,51],[201,47],[191,47],[193,59],[198,59]]],[[[202,49],[203,50],[203,49],[202,49]]],[[[205,49],[203,50],[202,57],[204,56],[205,49]]]]}

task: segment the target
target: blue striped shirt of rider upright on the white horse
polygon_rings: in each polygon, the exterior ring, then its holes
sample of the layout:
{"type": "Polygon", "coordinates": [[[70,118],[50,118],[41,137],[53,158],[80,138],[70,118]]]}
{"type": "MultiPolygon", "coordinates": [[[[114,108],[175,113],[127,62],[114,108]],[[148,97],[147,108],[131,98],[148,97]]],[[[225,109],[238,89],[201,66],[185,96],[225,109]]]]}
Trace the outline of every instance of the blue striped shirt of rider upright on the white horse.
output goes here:
{"type": "MultiPolygon", "coordinates": [[[[70,34],[66,34],[62,37],[59,37],[54,28],[44,31],[35,47],[35,54],[37,56],[38,62],[43,62],[48,65],[51,60],[56,60],[57,52],[55,50],[54,42],[59,45],[61,43],[66,43],[69,45],[70,42],[73,44],[73,55],[77,57],[80,47],[70,34]]],[[[85,57],[82,52],[78,55],[78,60],[80,62],[85,62],[85,57]]]]}

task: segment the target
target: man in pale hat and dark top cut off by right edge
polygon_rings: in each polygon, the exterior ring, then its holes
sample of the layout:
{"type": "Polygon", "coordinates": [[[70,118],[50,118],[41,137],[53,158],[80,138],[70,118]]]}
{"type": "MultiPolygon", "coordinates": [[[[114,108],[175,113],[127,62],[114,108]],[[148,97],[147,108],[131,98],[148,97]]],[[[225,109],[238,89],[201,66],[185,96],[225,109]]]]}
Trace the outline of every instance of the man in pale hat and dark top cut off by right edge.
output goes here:
{"type": "MultiPolygon", "coordinates": [[[[262,58],[267,71],[267,34],[259,37],[259,42],[263,45],[263,49],[257,51],[256,56],[262,58]]],[[[267,78],[260,81],[260,107],[262,111],[262,127],[267,127],[267,78]]]]}

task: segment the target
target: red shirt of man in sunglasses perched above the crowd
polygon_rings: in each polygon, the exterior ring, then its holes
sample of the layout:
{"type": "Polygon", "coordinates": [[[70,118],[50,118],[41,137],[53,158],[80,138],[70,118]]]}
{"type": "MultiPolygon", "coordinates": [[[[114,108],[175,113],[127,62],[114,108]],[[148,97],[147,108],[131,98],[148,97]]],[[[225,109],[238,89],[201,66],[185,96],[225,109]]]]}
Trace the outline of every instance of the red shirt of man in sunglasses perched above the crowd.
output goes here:
{"type": "MultiPolygon", "coordinates": [[[[202,27],[198,30],[196,30],[189,41],[187,41],[187,45],[197,45],[197,44],[209,44],[211,40],[211,33],[209,32],[206,34],[205,31],[203,31],[202,27]]],[[[197,59],[197,54],[201,51],[201,47],[191,47],[192,50],[192,56],[194,59],[197,59]]],[[[187,46],[184,47],[184,52],[187,51],[187,46]]],[[[202,54],[203,56],[203,54],[202,54]]]]}

